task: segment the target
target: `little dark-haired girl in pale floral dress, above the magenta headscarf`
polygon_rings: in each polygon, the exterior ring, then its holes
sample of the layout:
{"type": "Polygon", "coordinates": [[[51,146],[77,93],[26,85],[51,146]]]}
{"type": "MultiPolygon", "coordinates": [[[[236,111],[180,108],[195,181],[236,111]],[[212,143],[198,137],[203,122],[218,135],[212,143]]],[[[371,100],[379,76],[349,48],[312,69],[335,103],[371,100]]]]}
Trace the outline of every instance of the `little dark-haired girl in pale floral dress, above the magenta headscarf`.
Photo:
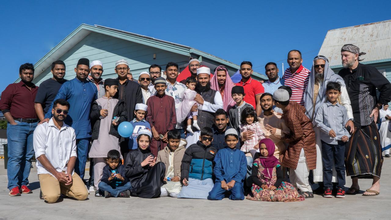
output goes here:
{"type": "Polygon", "coordinates": [[[261,139],[264,139],[265,136],[264,132],[262,131],[261,124],[259,123],[259,119],[256,116],[255,110],[253,108],[245,108],[240,117],[240,123],[242,123],[239,125],[240,133],[246,132],[248,130],[254,132],[253,138],[244,141],[244,144],[240,150],[244,151],[244,153],[248,153],[253,149],[259,152],[258,143],[261,139]]]}

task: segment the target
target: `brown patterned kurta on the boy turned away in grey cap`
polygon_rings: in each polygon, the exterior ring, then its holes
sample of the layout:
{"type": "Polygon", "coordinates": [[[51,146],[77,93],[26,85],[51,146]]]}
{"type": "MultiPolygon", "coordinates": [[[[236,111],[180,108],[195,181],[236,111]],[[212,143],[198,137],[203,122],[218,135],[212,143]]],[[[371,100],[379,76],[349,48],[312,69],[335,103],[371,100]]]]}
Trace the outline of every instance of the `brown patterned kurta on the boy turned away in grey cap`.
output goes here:
{"type": "Polygon", "coordinates": [[[291,134],[283,137],[289,146],[282,159],[282,165],[295,170],[301,148],[304,148],[308,168],[314,170],[316,168],[316,147],[312,122],[304,114],[305,108],[303,106],[294,101],[290,101],[289,104],[291,108],[284,112],[283,119],[287,127],[291,129],[291,134]]]}

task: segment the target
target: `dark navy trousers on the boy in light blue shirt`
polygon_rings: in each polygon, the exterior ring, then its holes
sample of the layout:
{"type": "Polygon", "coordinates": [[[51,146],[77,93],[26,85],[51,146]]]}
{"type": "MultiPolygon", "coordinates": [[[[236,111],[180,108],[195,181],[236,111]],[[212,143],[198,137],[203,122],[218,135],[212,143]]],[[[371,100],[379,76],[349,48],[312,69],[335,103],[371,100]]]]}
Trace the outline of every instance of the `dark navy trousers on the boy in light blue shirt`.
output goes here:
{"type": "Polygon", "coordinates": [[[338,144],[328,144],[322,141],[322,163],[323,163],[323,185],[332,188],[333,164],[337,171],[337,188],[345,186],[345,142],[338,141],[338,144]]]}

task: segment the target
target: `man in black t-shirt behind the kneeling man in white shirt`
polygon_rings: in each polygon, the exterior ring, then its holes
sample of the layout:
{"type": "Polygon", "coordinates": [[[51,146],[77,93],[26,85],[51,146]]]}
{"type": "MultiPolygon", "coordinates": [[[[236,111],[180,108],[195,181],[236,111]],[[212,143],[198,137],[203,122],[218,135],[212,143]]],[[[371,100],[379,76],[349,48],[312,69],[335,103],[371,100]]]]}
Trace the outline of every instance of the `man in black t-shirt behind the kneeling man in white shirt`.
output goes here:
{"type": "Polygon", "coordinates": [[[39,85],[37,96],[34,101],[35,111],[38,119],[41,121],[49,111],[50,104],[52,104],[60,87],[68,81],[64,79],[65,63],[62,60],[54,61],[50,67],[50,72],[52,72],[53,77],[43,81],[41,85],[39,85]]]}

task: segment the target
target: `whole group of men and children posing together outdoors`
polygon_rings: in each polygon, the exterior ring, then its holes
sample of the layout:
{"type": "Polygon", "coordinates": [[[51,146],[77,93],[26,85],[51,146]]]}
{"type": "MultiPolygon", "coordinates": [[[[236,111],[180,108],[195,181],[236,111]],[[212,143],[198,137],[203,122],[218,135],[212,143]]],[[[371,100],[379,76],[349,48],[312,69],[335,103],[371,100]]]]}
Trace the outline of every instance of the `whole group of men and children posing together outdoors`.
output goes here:
{"type": "Polygon", "coordinates": [[[308,70],[291,50],[283,77],[270,62],[263,83],[251,77],[249,61],[240,64],[239,83],[224,66],[211,76],[197,59],[184,81],[169,62],[163,74],[154,64],[136,82],[126,60],[116,62],[117,78],[102,79],[102,62],[81,58],[74,79],[64,79],[65,63],[57,60],[38,88],[25,63],[21,81],[0,100],[9,195],[32,193],[34,153],[48,203],[61,194],[84,200],[90,188],[105,198],[291,202],[313,198],[314,183],[323,197],[344,198],[360,191],[359,178],[373,179],[363,195],[378,195],[382,151],[389,157],[391,147],[391,84],[359,62],[364,54],[344,45],[344,68],[335,74],[326,57],[316,56],[308,70]],[[124,121],[133,125],[130,137],[118,132],[124,121]],[[352,186],[345,192],[346,175],[352,186]]]}

